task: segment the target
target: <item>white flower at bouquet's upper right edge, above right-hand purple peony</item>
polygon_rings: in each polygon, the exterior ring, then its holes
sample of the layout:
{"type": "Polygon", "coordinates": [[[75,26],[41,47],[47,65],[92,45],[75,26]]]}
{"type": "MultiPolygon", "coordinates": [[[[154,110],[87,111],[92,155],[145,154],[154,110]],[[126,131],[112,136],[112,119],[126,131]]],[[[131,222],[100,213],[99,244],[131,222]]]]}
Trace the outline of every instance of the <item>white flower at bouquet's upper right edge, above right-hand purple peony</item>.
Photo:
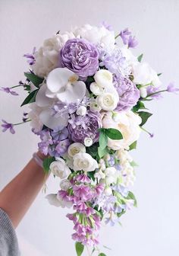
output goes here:
{"type": "Polygon", "coordinates": [[[133,82],[137,85],[161,85],[159,76],[146,62],[135,62],[132,66],[133,82]]]}

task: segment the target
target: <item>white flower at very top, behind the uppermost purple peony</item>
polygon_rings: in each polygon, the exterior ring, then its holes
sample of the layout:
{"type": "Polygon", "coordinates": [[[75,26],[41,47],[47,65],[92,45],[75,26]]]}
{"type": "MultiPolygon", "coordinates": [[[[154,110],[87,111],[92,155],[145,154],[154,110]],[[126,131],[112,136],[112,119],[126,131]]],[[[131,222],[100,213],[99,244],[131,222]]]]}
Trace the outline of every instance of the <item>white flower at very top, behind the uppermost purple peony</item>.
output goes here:
{"type": "Polygon", "coordinates": [[[104,26],[95,27],[86,24],[83,27],[75,27],[73,33],[76,37],[85,38],[105,50],[113,50],[115,48],[115,32],[109,31],[104,26]]]}

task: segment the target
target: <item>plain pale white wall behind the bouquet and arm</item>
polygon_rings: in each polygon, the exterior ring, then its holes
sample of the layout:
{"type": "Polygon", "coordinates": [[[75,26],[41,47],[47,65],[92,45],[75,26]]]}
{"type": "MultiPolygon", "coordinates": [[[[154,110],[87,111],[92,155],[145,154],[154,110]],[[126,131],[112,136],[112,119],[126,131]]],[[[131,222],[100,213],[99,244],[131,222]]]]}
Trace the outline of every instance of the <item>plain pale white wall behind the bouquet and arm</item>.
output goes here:
{"type": "MultiPolygon", "coordinates": [[[[130,27],[140,42],[134,53],[145,53],[145,60],[163,73],[164,87],[172,81],[178,85],[178,0],[0,0],[0,86],[16,85],[24,78],[28,66],[22,56],[33,46],[39,47],[44,39],[71,25],[101,21],[111,24],[116,33],[130,27]]],[[[103,250],[108,256],[179,254],[179,99],[174,94],[164,96],[149,104],[154,115],[146,128],[155,137],[149,139],[143,133],[133,152],[140,164],[134,186],[138,208],[121,219],[122,227],[102,228],[101,243],[112,248],[103,250]]],[[[17,98],[1,92],[0,118],[18,122],[24,97],[24,91],[17,98]]],[[[38,139],[25,124],[17,127],[14,136],[0,133],[0,140],[2,189],[36,151],[38,139]]],[[[51,178],[48,186],[49,193],[55,192],[58,182],[51,178]]],[[[39,194],[17,229],[20,243],[30,244],[25,256],[75,255],[72,223],[65,218],[66,213],[49,206],[44,194],[39,194]],[[30,252],[34,248],[36,253],[30,252]]]]}

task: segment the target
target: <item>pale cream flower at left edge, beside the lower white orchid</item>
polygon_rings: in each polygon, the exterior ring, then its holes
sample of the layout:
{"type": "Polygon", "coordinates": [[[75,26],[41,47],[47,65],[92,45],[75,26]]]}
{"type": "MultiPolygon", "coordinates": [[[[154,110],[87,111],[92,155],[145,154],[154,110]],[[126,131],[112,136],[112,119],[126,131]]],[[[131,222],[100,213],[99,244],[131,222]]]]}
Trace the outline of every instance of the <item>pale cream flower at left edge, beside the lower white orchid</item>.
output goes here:
{"type": "Polygon", "coordinates": [[[30,104],[30,113],[29,113],[29,118],[30,118],[30,126],[34,129],[36,133],[42,130],[43,123],[39,119],[39,114],[42,112],[42,108],[38,107],[35,102],[30,104]]]}

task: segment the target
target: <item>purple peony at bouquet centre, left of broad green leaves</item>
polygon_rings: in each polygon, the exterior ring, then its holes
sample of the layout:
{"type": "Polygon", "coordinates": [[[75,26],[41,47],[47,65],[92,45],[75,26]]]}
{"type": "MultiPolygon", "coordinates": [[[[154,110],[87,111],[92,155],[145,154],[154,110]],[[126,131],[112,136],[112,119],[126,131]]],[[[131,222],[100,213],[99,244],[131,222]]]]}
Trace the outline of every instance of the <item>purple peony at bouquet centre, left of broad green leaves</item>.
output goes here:
{"type": "Polygon", "coordinates": [[[98,129],[101,127],[100,116],[97,113],[89,111],[86,116],[71,115],[68,131],[74,142],[84,142],[84,139],[91,138],[93,143],[99,138],[98,129]]]}

